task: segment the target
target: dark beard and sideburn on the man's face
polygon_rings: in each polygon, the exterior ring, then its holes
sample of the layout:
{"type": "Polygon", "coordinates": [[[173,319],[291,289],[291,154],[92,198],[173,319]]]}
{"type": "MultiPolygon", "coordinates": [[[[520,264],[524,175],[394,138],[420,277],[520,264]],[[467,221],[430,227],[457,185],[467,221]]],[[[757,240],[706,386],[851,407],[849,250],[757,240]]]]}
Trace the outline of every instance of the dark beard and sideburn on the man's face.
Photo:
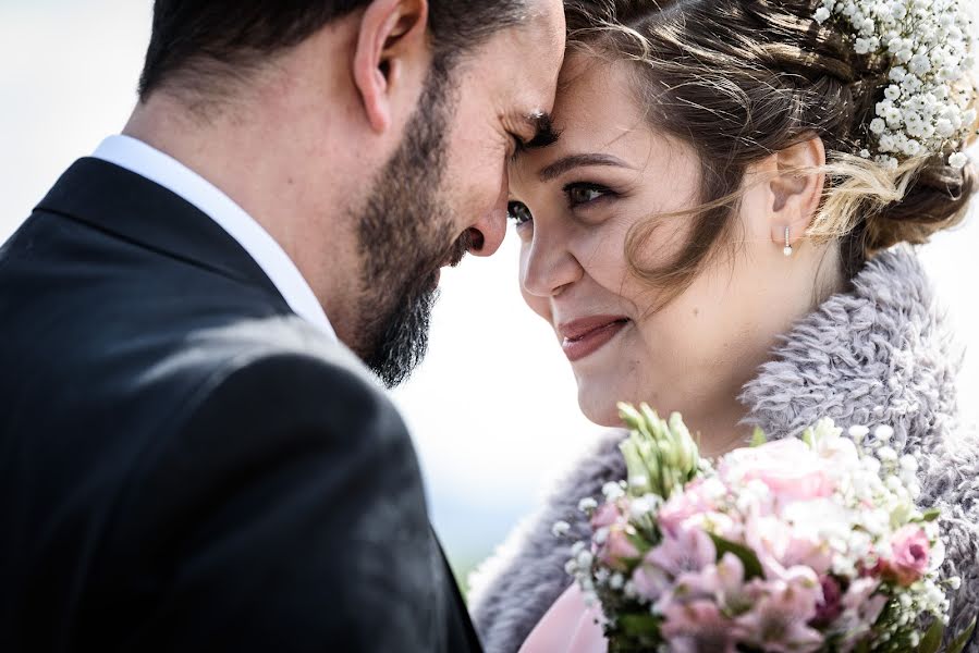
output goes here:
{"type": "Polygon", "coordinates": [[[363,260],[360,317],[353,349],[388,387],[404,382],[428,350],[439,269],[468,251],[454,245],[440,198],[453,103],[433,70],[397,151],[375,181],[358,221],[363,260]]]}

